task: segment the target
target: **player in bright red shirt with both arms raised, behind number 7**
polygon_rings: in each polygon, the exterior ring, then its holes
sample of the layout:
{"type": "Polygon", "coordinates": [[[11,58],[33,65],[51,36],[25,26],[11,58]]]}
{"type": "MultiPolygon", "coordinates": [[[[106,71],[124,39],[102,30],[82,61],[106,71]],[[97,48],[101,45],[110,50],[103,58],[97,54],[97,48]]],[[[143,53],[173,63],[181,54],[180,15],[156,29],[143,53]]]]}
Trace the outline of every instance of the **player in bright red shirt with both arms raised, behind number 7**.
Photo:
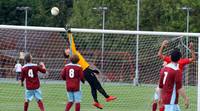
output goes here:
{"type": "MultiPolygon", "coordinates": [[[[168,63],[171,62],[170,56],[166,56],[166,55],[162,54],[162,51],[163,51],[163,49],[165,47],[167,47],[167,44],[168,44],[168,41],[164,40],[162,42],[162,44],[161,44],[161,47],[160,47],[159,51],[158,51],[158,56],[165,62],[164,64],[168,64],[168,63]]],[[[178,61],[181,75],[183,73],[185,65],[192,63],[196,58],[192,42],[190,42],[189,48],[191,50],[191,58],[180,58],[180,60],[178,61]]],[[[159,92],[160,92],[159,88],[157,87],[156,91],[155,91],[155,94],[154,94],[154,100],[153,100],[153,104],[152,104],[152,111],[156,111],[156,109],[157,109],[157,106],[158,106],[157,103],[158,103],[159,95],[160,95],[159,92]]]]}

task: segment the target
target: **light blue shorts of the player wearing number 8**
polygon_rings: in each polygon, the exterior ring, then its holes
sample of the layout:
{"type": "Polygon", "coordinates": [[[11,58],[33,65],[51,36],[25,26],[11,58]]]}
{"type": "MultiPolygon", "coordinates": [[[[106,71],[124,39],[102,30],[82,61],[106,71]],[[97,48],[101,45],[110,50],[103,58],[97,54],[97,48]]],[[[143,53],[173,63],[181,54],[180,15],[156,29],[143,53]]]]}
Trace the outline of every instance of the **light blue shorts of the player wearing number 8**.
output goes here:
{"type": "Polygon", "coordinates": [[[80,103],[82,99],[82,93],[81,91],[76,91],[76,92],[67,92],[67,97],[69,102],[76,102],[80,103]]]}

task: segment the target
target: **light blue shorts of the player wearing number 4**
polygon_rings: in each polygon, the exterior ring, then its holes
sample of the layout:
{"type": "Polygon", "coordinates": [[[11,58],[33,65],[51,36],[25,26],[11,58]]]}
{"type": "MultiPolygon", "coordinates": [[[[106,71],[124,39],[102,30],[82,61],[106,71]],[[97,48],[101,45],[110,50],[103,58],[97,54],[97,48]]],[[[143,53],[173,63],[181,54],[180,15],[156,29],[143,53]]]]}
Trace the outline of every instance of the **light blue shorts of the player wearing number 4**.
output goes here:
{"type": "Polygon", "coordinates": [[[25,90],[25,100],[32,101],[35,98],[36,101],[42,100],[42,92],[40,89],[25,90]]]}

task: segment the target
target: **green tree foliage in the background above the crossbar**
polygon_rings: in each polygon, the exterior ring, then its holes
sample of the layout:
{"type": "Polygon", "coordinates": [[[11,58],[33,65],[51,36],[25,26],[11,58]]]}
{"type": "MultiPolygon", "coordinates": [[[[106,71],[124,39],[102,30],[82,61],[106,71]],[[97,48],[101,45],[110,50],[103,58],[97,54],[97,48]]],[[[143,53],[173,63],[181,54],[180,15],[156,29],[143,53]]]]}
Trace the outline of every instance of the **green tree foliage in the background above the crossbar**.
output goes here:
{"type": "MultiPolygon", "coordinates": [[[[94,7],[106,6],[105,29],[136,30],[137,0],[73,0],[68,8],[65,0],[1,0],[0,24],[24,25],[24,11],[17,6],[29,6],[28,25],[63,27],[71,24],[78,28],[102,28],[102,11],[94,7]],[[60,9],[52,16],[53,6],[60,9]]],[[[199,32],[199,0],[140,0],[140,30],[186,31],[186,11],[191,7],[190,31],[199,32]]]]}

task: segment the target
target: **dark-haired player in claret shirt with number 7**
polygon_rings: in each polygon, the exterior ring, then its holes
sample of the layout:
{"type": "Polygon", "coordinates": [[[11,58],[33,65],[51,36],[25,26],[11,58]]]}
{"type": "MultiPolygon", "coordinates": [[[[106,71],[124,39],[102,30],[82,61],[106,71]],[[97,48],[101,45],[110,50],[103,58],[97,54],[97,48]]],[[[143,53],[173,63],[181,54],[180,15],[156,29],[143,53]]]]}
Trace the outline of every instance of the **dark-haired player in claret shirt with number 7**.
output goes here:
{"type": "Polygon", "coordinates": [[[160,72],[159,88],[161,92],[160,111],[180,111],[178,97],[184,98],[185,107],[189,106],[189,99],[182,87],[182,75],[179,72],[178,61],[181,58],[179,50],[171,52],[171,62],[167,64],[160,72]]]}

